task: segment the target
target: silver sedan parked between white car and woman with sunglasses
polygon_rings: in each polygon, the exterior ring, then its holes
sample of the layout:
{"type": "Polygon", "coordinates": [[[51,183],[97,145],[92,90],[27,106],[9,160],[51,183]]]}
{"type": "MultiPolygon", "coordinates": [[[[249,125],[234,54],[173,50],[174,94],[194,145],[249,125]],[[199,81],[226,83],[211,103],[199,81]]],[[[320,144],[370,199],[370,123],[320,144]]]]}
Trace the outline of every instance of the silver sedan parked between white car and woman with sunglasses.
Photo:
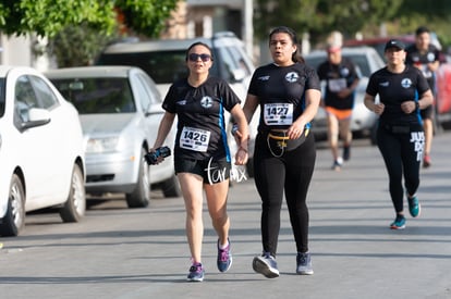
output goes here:
{"type": "MultiPolygon", "coordinates": [[[[173,159],[149,167],[144,155],[154,145],[163,115],[154,80],[133,66],[82,66],[45,73],[80,112],[86,139],[86,191],[125,194],[130,208],[147,207],[150,188],[180,196],[173,159]]],[[[173,146],[175,130],[167,139],[173,146]]]]}

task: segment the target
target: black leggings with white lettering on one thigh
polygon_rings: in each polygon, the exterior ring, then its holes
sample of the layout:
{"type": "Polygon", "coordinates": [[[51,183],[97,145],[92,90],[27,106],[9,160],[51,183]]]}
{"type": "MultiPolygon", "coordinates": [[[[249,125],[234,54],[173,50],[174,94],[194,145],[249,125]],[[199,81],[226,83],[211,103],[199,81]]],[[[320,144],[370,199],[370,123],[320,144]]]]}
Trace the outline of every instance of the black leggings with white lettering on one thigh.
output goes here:
{"type": "Polygon", "coordinates": [[[407,133],[393,133],[393,127],[379,126],[377,144],[389,175],[391,200],[397,213],[404,210],[404,185],[409,195],[415,195],[419,186],[419,164],[425,135],[422,126],[411,127],[407,133]]]}

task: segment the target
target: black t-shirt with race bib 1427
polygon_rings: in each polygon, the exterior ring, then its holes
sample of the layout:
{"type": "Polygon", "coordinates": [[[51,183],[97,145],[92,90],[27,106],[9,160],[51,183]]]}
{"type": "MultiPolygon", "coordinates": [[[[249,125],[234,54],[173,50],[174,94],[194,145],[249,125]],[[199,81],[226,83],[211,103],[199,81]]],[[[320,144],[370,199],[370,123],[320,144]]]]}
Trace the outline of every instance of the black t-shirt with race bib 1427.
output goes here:
{"type": "MultiPolygon", "coordinates": [[[[305,64],[258,67],[252,77],[248,94],[258,97],[259,130],[288,128],[305,110],[305,90],[321,90],[316,71],[305,64]]],[[[310,124],[307,124],[307,128],[310,124]]]]}

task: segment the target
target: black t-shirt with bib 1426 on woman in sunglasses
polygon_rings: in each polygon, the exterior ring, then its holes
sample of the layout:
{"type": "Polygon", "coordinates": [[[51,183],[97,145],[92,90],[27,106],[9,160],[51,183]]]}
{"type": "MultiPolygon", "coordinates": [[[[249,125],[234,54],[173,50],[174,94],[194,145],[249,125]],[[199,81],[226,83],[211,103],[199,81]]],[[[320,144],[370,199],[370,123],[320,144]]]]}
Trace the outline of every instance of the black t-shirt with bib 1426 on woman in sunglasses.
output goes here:
{"type": "Polygon", "coordinates": [[[228,83],[217,77],[197,88],[186,78],[171,85],[162,108],[178,116],[174,155],[195,160],[226,157],[230,161],[224,110],[240,103],[228,83]]]}

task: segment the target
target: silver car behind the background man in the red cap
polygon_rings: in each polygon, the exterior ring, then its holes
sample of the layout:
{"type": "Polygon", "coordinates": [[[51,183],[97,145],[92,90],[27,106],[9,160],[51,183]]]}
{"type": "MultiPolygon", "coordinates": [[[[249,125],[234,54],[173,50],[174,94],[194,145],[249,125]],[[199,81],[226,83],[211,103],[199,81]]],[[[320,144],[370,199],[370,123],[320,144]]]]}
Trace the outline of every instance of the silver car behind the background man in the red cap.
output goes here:
{"type": "MultiPolygon", "coordinates": [[[[361,77],[355,90],[351,130],[357,135],[369,136],[371,142],[375,144],[377,116],[365,107],[363,100],[370,74],[383,67],[385,63],[376,50],[369,47],[343,48],[342,55],[354,62],[361,77]]],[[[317,70],[318,65],[327,60],[327,53],[324,50],[316,50],[306,54],[304,59],[308,65],[317,70]]],[[[324,109],[318,110],[313,121],[312,132],[318,138],[324,139],[327,136],[327,117],[324,109]]]]}

